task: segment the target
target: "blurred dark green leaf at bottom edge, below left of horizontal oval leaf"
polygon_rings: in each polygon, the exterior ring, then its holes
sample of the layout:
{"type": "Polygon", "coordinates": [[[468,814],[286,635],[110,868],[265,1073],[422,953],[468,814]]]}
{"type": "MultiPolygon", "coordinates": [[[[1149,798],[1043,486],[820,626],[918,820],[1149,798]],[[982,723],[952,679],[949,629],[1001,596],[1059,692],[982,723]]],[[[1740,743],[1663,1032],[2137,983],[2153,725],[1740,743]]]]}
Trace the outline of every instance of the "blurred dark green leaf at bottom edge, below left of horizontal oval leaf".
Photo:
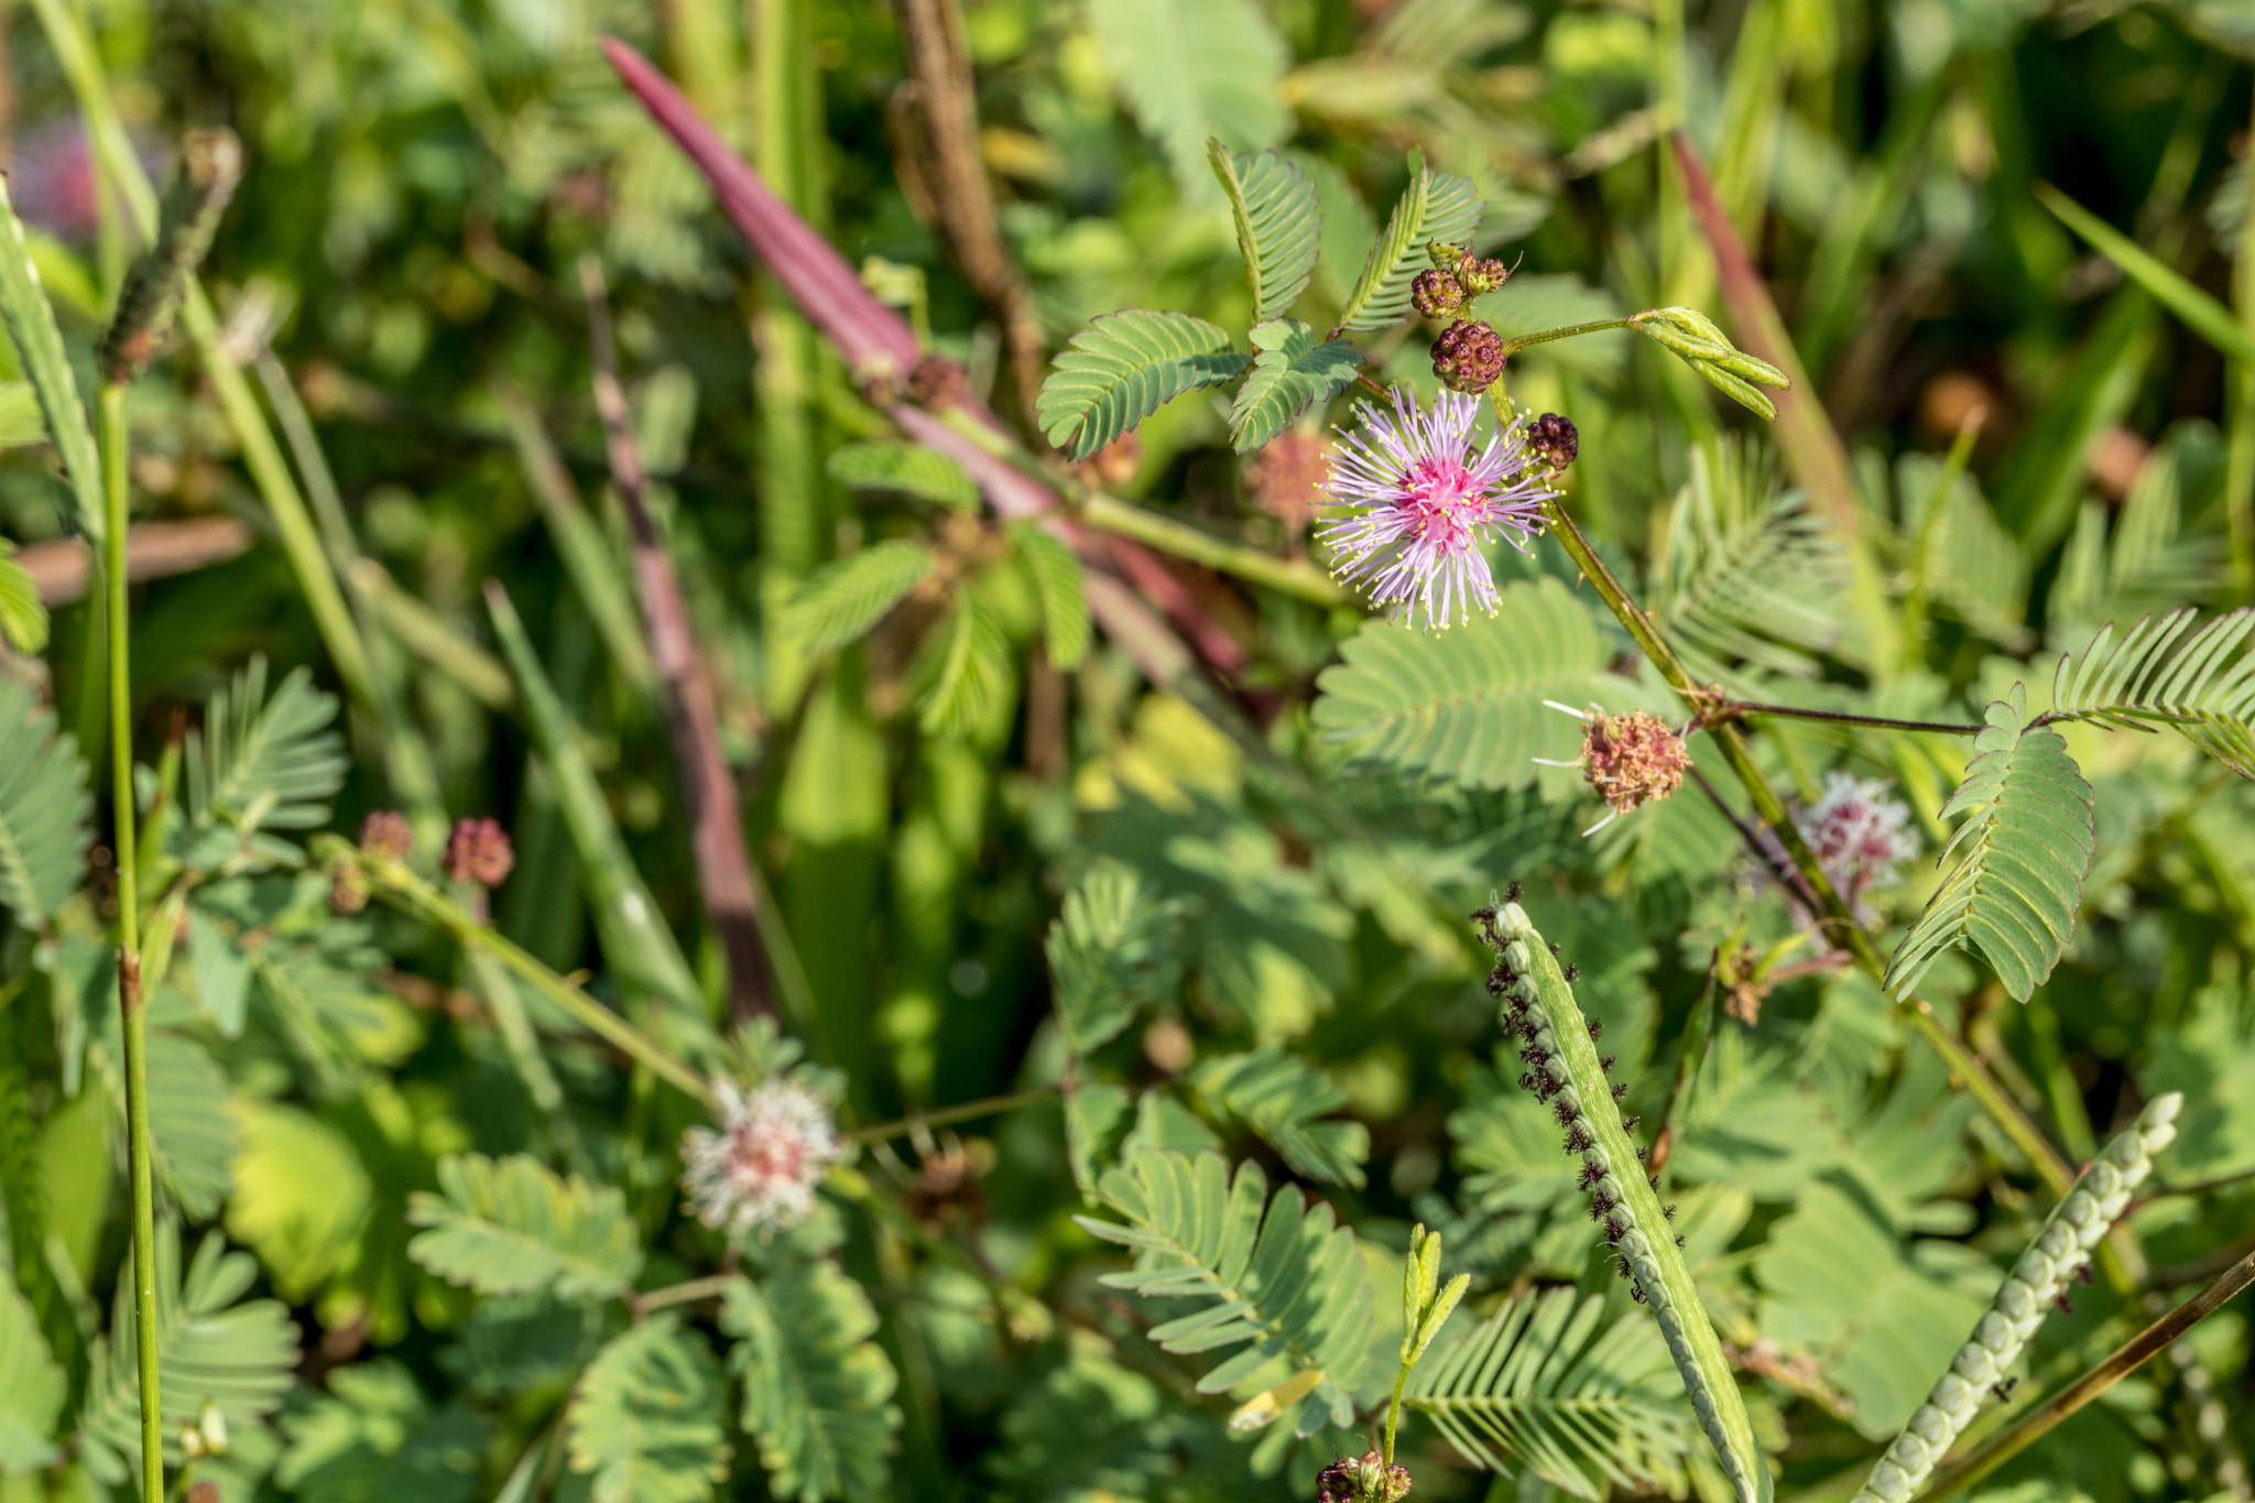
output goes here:
{"type": "Polygon", "coordinates": [[[338,1368],[327,1395],[282,1417],[289,1449],[275,1483],[309,1503],[469,1503],[485,1462],[485,1424],[437,1413],[395,1361],[338,1368]]]}

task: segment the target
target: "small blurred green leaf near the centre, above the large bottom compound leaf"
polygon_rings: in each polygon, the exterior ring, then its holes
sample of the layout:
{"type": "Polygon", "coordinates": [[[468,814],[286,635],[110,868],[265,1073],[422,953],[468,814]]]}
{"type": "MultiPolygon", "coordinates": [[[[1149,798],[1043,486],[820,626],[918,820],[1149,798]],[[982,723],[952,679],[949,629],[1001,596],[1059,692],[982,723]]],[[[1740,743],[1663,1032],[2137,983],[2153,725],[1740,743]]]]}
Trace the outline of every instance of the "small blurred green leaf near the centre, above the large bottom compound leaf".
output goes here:
{"type": "Polygon", "coordinates": [[[1182,976],[1179,904],[1125,865],[1098,865],[1064,895],[1049,926],[1049,982],[1076,1055],[1116,1039],[1137,1012],[1173,996],[1182,976]]]}

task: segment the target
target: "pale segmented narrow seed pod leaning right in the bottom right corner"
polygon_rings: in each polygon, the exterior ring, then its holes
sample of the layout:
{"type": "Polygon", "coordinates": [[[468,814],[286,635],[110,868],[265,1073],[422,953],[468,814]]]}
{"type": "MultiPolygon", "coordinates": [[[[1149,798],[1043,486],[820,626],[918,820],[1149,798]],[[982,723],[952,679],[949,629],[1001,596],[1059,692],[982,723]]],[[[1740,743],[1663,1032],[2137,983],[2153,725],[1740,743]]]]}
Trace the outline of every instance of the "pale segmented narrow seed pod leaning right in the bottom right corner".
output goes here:
{"type": "Polygon", "coordinates": [[[1973,1336],[1957,1348],[1951,1370],[1935,1379],[1926,1404],[1919,1404],[1910,1424],[1872,1467],[1854,1503],[1908,1503],[1926,1485],[1944,1451],[1973,1422],[1982,1399],[2002,1402],[2011,1393],[2018,1379],[2005,1377],[2005,1368],[2020,1357],[2054,1300],[2086,1266],[2090,1248],[2129,1208],[2131,1192],[2154,1172],[2154,1154],[2176,1138],[2176,1113],[2183,1106],[2185,1097],[2178,1091],[2156,1095],[2129,1131],[2093,1160],[2081,1183],[2059,1201],[2043,1230],[2011,1264],[2005,1287],[1989,1300],[1989,1311],[1973,1327],[1973,1336]]]}

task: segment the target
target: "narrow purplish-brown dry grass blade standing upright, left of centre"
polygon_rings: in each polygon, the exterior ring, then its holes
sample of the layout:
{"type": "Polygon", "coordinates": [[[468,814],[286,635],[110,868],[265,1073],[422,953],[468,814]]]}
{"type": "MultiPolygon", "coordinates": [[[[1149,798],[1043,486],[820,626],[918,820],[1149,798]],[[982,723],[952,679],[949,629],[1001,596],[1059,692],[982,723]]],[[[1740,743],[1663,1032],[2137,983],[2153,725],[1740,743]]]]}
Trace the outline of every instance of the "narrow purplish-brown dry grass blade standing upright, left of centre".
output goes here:
{"type": "Polygon", "coordinates": [[[704,653],[697,651],[674,561],[649,521],[643,453],[634,442],[627,390],[618,383],[611,306],[595,257],[580,259],[580,288],[586,293],[595,410],[602,415],[611,482],[618,487],[618,498],[627,507],[627,525],[634,532],[634,581],[643,597],[643,626],[649,635],[649,658],[665,701],[667,739],[674,744],[674,759],[681,766],[681,798],[688,804],[697,890],[704,897],[706,919],[728,958],[728,1010],[735,1016],[773,1014],[776,1007],[767,996],[767,946],[760,944],[751,852],[744,850],[744,811],[735,793],[735,773],[719,748],[713,674],[704,653]]]}

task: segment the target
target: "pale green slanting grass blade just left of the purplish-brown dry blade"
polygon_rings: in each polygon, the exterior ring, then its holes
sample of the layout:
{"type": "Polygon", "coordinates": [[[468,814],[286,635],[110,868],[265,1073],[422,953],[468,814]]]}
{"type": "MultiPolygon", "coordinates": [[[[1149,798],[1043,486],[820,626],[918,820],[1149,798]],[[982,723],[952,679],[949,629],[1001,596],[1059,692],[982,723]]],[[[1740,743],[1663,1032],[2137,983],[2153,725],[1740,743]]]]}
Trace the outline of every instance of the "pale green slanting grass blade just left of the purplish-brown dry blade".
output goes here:
{"type": "Polygon", "coordinates": [[[661,998],[701,1016],[706,1003],[697,976],[681,958],[681,944],[627,854],[627,843],[611,820],[611,804],[595,782],[595,768],[580,750],[580,728],[550,687],[532,640],[516,620],[516,608],[496,581],[487,581],[485,604],[494,615],[501,656],[516,676],[516,696],[525,705],[532,744],[555,780],[557,804],[564,809],[573,850],[580,852],[580,881],[595,910],[595,935],[602,940],[604,960],[629,996],[661,998]]]}

